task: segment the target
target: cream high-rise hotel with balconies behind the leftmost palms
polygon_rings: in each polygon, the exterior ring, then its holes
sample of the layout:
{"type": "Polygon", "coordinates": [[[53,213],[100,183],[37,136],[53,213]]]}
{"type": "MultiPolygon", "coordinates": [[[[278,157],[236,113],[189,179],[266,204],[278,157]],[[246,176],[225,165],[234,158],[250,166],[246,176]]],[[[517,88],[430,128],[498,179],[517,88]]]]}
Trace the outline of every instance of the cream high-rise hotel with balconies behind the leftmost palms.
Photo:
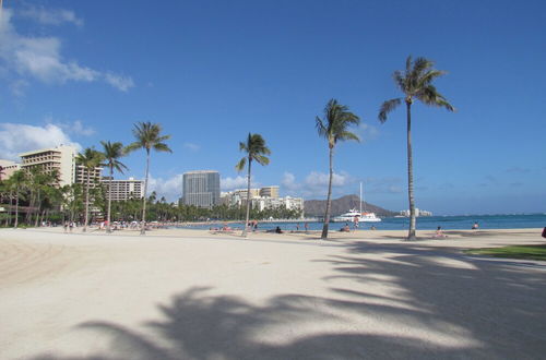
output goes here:
{"type": "Polygon", "coordinates": [[[60,145],[20,154],[21,168],[32,169],[39,167],[46,172],[59,171],[59,185],[74,183],[75,177],[75,147],[60,145]]]}

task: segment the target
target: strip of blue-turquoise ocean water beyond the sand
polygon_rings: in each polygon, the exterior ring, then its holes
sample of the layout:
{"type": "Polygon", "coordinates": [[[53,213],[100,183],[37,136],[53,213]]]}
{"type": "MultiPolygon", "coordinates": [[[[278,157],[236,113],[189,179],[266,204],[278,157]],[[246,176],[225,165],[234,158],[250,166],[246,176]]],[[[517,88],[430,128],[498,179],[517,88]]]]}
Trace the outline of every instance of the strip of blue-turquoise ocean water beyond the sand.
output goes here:
{"type": "MultiPolygon", "coordinates": [[[[474,221],[479,224],[479,229],[523,229],[546,227],[546,214],[535,215],[470,215],[470,216],[430,216],[417,218],[417,230],[436,230],[441,226],[444,230],[470,230],[474,221]]],[[[309,230],[321,230],[322,223],[308,223],[309,230]]],[[[209,229],[222,227],[223,223],[210,223],[206,225],[189,225],[183,228],[209,229]]],[[[304,230],[302,221],[259,223],[258,230],[274,229],[277,226],[283,230],[304,230]]],[[[344,223],[330,223],[331,230],[339,230],[344,223]]],[[[353,227],[353,224],[349,224],[353,227]]],[[[360,230],[369,230],[371,226],[378,230],[406,230],[410,228],[410,219],[405,217],[387,217],[381,223],[360,223],[360,230]]],[[[242,229],[242,224],[229,224],[232,228],[242,229]]]]}

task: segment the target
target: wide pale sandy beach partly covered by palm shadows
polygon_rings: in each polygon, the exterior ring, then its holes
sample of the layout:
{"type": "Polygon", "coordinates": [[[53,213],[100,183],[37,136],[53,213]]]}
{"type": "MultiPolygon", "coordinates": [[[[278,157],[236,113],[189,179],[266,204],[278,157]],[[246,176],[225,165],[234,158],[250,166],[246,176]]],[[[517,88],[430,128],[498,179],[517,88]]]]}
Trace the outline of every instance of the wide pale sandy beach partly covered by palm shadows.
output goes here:
{"type": "Polygon", "coordinates": [[[542,229],[0,230],[1,359],[537,359],[542,229]]]}

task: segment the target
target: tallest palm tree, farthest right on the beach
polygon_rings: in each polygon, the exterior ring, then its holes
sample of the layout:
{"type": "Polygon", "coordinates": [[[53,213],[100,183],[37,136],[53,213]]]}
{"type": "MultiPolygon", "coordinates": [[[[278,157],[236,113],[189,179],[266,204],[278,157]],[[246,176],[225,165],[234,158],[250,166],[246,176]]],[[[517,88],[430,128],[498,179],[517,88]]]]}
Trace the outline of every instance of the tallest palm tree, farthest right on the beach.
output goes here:
{"type": "Polygon", "coordinates": [[[428,106],[437,106],[454,111],[455,109],[448,100],[436,89],[432,81],[446,74],[446,71],[432,68],[434,62],[425,58],[417,58],[412,61],[412,57],[406,59],[406,69],[404,72],[394,71],[392,74],[394,83],[404,94],[404,97],[393,98],[384,101],[379,109],[379,121],[384,123],[387,115],[394,110],[402,100],[406,104],[407,120],[407,196],[410,200],[410,232],[407,240],[415,240],[415,200],[413,193],[413,154],[412,154],[412,104],[417,99],[428,106]]]}

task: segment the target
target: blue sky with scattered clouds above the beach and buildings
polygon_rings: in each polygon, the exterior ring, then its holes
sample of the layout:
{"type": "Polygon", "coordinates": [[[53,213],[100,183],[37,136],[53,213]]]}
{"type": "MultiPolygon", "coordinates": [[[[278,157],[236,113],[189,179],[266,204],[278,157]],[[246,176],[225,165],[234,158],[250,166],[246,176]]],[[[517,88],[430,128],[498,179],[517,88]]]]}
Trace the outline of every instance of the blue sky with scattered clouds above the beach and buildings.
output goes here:
{"type": "MultiPolygon", "coordinates": [[[[546,212],[546,4],[543,1],[13,1],[0,20],[0,158],[57,143],[132,141],[159,122],[173,155],[152,155],[169,200],[180,175],[215,169],[241,188],[238,142],[260,133],[258,185],[324,199],[328,146],[314,117],[336,98],[361,143],[335,151],[334,196],[407,208],[405,109],[392,72],[408,55],[449,73],[456,112],[413,107],[416,204],[436,214],[546,212]]],[[[144,154],[124,159],[142,178],[144,154]]]]}

